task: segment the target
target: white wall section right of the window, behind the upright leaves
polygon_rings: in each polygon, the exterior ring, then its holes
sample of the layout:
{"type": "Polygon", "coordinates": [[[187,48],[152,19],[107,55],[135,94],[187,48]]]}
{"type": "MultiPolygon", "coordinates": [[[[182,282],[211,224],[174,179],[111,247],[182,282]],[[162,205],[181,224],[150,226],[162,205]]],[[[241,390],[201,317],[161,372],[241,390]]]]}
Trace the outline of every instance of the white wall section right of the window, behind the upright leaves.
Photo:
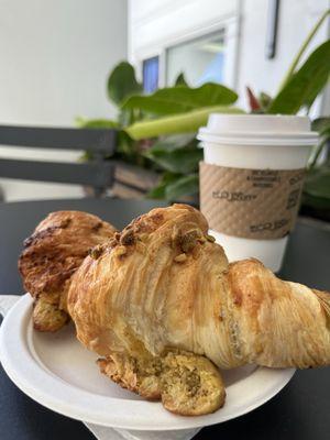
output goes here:
{"type": "MultiPolygon", "coordinates": [[[[274,95],[294,56],[319,16],[329,8],[328,0],[282,0],[278,18],[276,57],[265,58],[265,37],[267,29],[267,1],[243,0],[241,9],[241,38],[239,55],[238,88],[244,94],[246,85],[256,91],[274,95]]],[[[329,35],[323,24],[312,41],[312,47],[322,43],[329,35]]],[[[326,62],[326,61],[324,61],[326,62]]]]}

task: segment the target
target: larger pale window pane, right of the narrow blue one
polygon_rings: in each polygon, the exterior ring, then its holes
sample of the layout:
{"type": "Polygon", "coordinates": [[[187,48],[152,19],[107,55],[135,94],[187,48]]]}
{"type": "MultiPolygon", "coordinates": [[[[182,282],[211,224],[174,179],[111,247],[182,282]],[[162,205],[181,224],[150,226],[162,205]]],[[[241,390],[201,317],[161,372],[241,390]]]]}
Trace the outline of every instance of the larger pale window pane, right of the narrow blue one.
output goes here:
{"type": "Polygon", "coordinates": [[[166,82],[174,85],[180,73],[189,86],[222,82],[224,67],[224,31],[191,40],[167,50],[166,82]]]}

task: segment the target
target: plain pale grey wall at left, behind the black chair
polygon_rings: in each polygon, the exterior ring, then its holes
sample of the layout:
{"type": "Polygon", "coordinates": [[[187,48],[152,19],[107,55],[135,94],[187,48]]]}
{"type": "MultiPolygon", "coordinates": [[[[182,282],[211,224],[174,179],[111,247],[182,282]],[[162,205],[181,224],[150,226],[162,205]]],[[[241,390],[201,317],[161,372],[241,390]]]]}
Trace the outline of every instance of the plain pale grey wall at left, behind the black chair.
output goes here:
{"type": "MultiPolygon", "coordinates": [[[[112,117],[111,68],[127,57],[125,0],[0,0],[0,123],[74,125],[112,117]]],[[[0,148],[0,156],[22,155],[0,148]]],[[[77,153],[24,156],[76,161],[77,153]]],[[[0,180],[9,200],[75,197],[78,187],[0,180]]]]}

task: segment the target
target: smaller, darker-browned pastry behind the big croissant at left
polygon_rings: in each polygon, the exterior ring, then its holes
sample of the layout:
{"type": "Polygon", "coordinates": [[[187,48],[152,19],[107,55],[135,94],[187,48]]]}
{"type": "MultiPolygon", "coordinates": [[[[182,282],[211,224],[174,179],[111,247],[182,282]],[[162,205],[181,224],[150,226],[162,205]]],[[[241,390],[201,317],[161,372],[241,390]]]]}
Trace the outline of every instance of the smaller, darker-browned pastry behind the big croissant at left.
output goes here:
{"type": "Polygon", "coordinates": [[[40,331],[56,331],[69,319],[69,279],[88,251],[113,237],[114,228],[79,211],[52,212],[24,241],[19,260],[24,288],[34,298],[33,322],[40,331]]]}

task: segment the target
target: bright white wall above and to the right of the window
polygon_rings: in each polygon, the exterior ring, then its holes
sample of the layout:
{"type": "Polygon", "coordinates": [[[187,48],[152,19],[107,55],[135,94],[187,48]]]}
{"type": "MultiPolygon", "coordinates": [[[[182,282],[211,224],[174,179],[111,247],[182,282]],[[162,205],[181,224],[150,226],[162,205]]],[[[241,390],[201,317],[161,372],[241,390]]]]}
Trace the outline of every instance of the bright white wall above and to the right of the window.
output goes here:
{"type": "MultiPolygon", "coordinates": [[[[162,54],[183,38],[210,33],[221,23],[231,26],[229,55],[238,48],[230,63],[227,84],[239,91],[240,105],[245,105],[244,88],[275,94],[294,55],[329,0],[280,0],[277,51],[274,59],[265,57],[267,0],[129,0],[129,56],[141,59],[162,54]]],[[[328,21],[329,25],[329,21],[328,21]]],[[[311,48],[329,36],[323,25],[311,48]]]]}

